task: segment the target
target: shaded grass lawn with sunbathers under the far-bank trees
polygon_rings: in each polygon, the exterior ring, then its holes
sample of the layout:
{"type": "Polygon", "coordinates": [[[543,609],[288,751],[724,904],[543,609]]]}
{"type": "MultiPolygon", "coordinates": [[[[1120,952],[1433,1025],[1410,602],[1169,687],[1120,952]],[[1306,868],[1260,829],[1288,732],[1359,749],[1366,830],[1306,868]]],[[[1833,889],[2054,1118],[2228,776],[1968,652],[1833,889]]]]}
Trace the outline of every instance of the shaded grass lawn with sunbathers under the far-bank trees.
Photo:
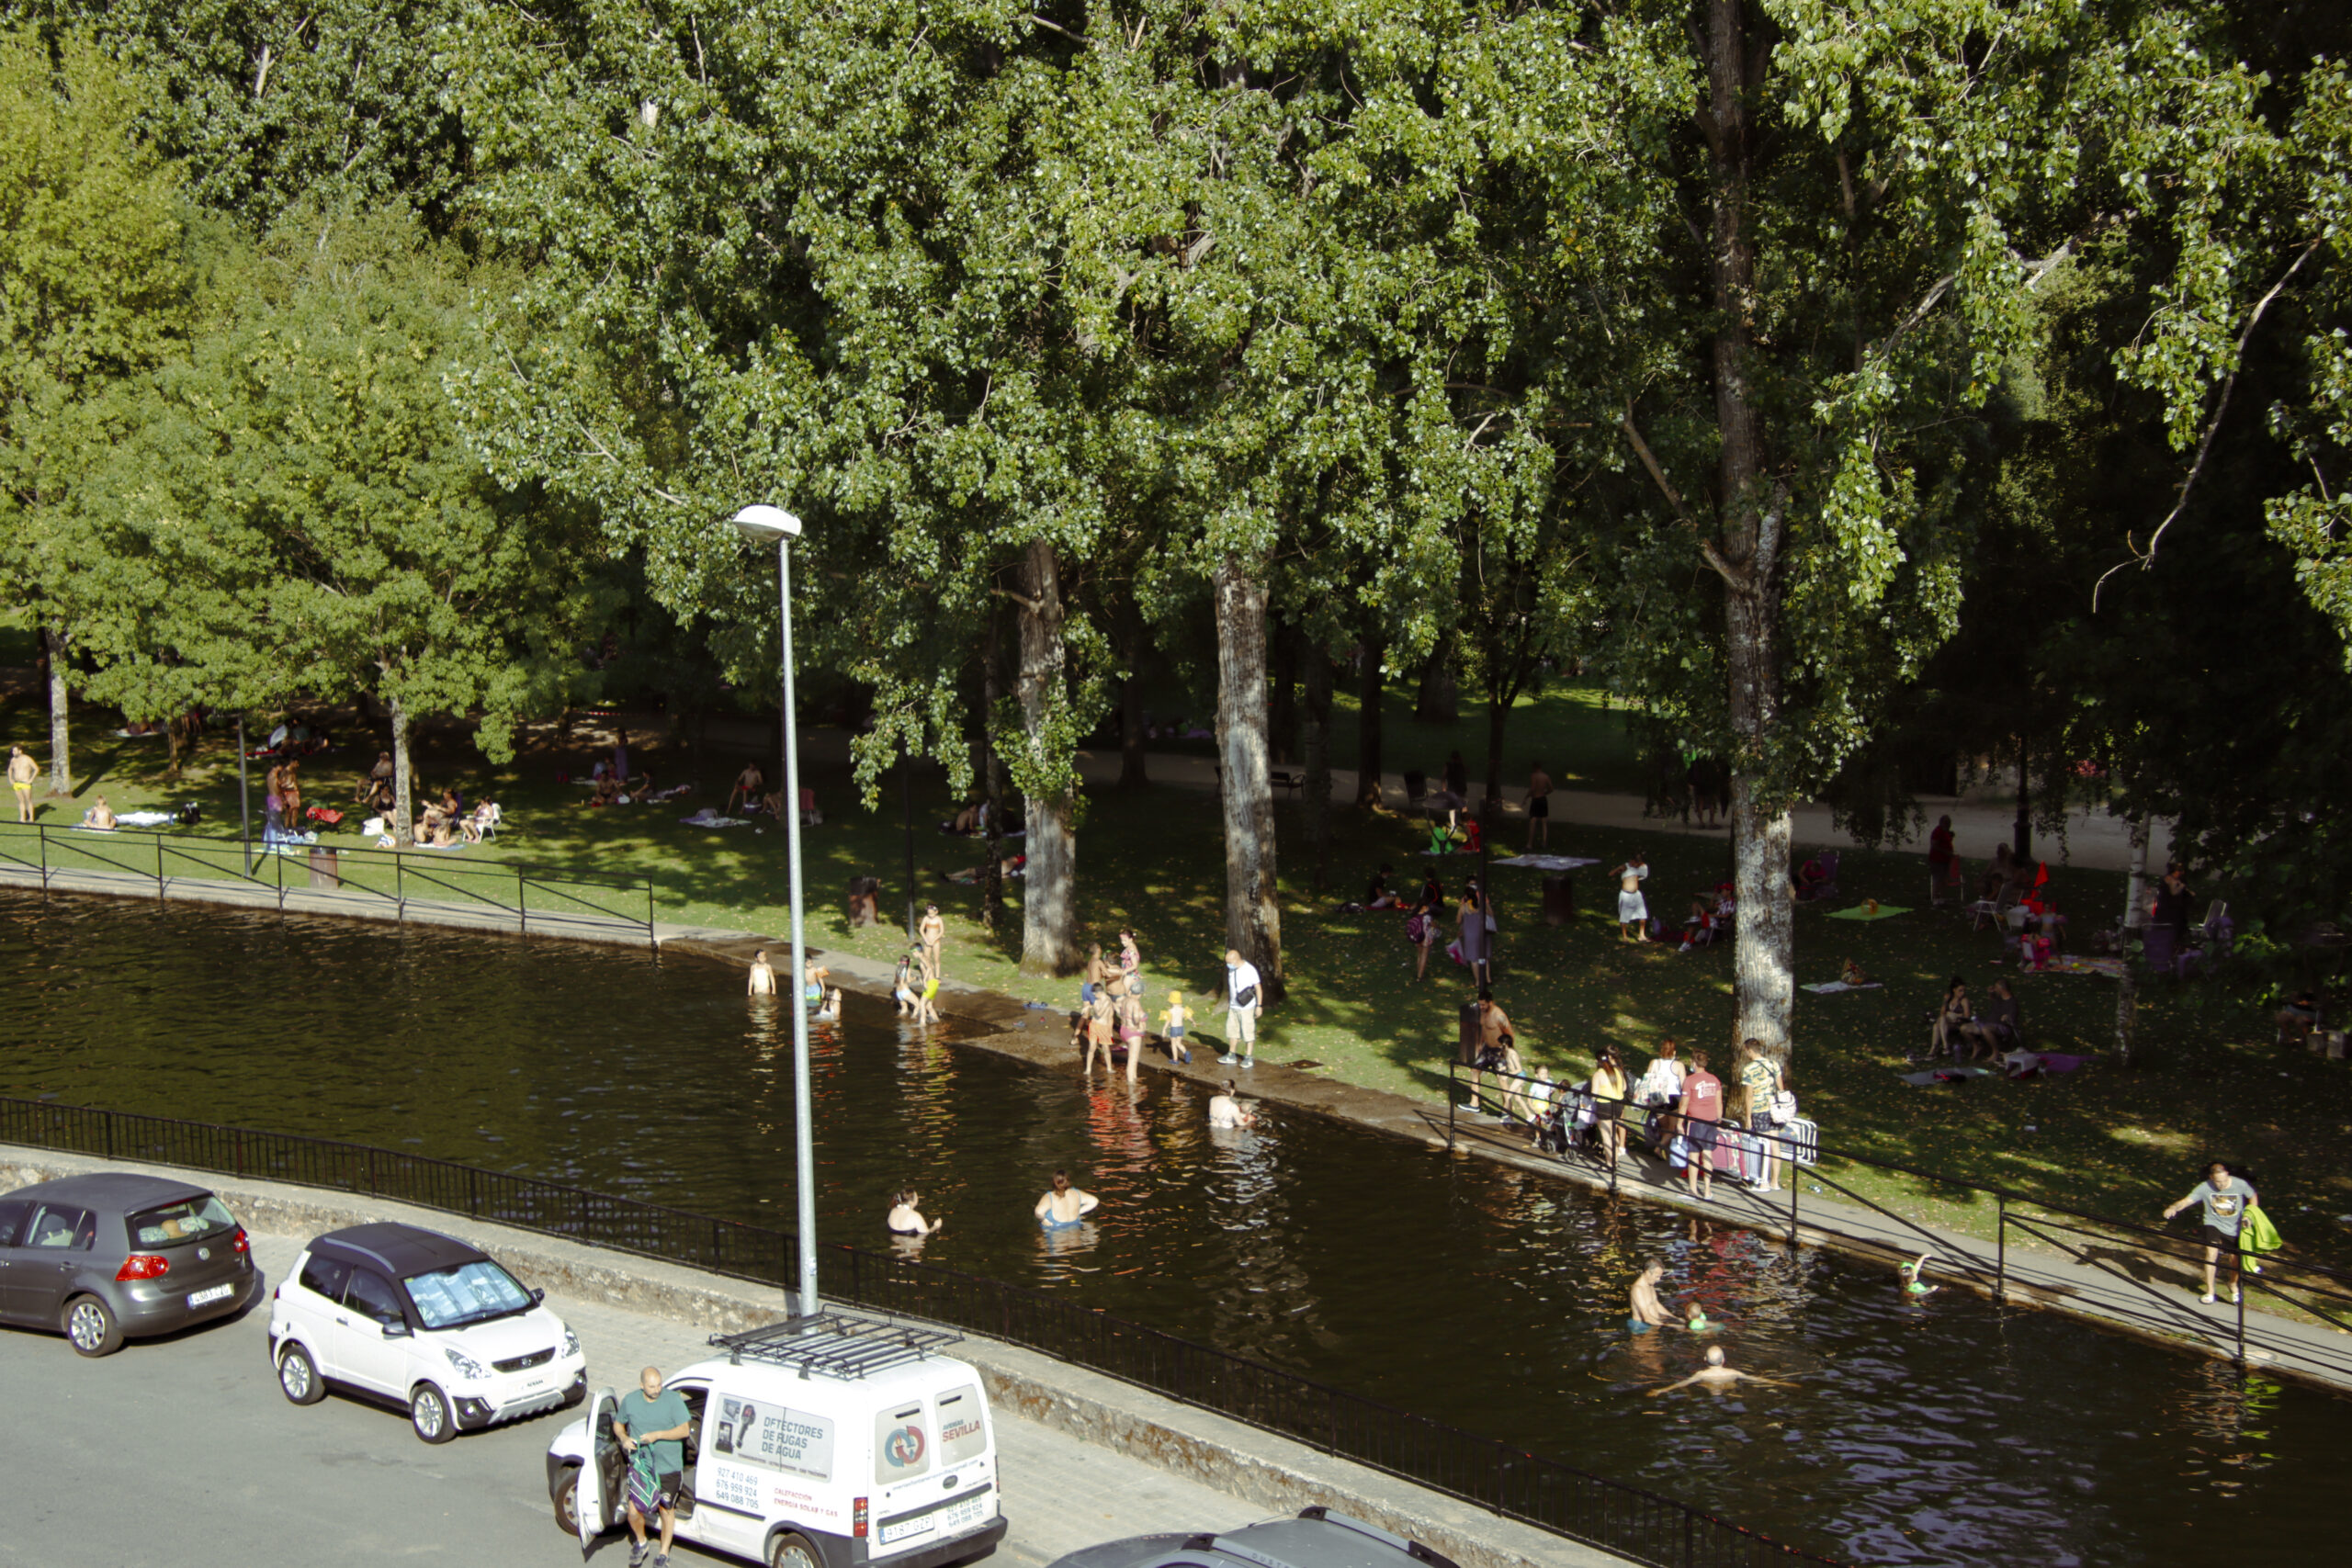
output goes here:
{"type": "MultiPolygon", "coordinates": [[[[1559,693],[1548,698],[1548,710],[1559,701],[1559,693]]],[[[1590,708],[1583,712],[1588,717],[1559,717],[1555,733],[1576,733],[1576,724],[1602,717],[1590,708]]],[[[12,738],[42,743],[45,750],[38,698],[9,703],[5,719],[12,738]]],[[[94,719],[78,724],[85,776],[80,799],[71,809],[54,804],[47,820],[78,818],[92,792],[106,792],[115,809],[198,797],[209,813],[200,832],[235,832],[235,762],[226,745],[207,745],[186,785],[167,792],[160,780],[160,741],[99,738],[96,731],[94,719]]],[[[569,752],[574,771],[581,771],[586,750],[579,745],[569,752]]],[[[637,750],[666,783],[682,778],[682,745],[637,750]]],[[[1512,743],[1512,755],[1519,752],[1512,743]]],[[[1390,755],[1409,752],[1392,738],[1390,755]]],[[[358,769],[372,757],[374,748],[346,748],[306,764],[313,799],[346,799],[358,769]]],[[[435,785],[454,778],[468,797],[489,790],[506,804],[513,830],[499,846],[466,851],[468,865],[520,860],[581,875],[649,877],[666,922],[783,933],[783,835],[708,832],[677,823],[699,804],[717,804],[739,764],[741,750],[715,748],[706,757],[699,795],[675,806],[614,811],[590,811],[581,804],[583,790],[553,780],[560,759],[550,750],[550,736],[532,736],[513,766],[492,769],[473,752],[470,741],[456,731],[435,731],[421,745],[419,766],[435,785]]],[[[1564,764],[1555,766],[1564,771],[1564,764]]],[[[259,776],[254,783],[259,790],[259,776]]],[[[804,839],[811,940],[889,959],[901,947],[896,929],[842,929],[842,886],[851,875],[877,875],[884,879],[884,917],[903,912],[906,851],[896,823],[896,788],[884,792],[884,809],[870,816],[851,802],[844,771],[816,771],[804,783],[818,792],[828,813],[828,823],[804,839]]],[[[948,917],[950,973],[1065,1006],[1075,997],[1075,983],[1030,978],[1016,969],[1018,910],[1011,910],[1011,931],[988,940],[976,919],[978,891],[941,882],[941,870],[969,865],[981,853],[974,842],[936,832],[946,809],[938,776],[924,783],[917,773],[917,889],[948,917]]],[[[1277,804],[1289,842],[1296,842],[1298,811],[1296,804],[1277,804]]],[[[1414,853],[1418,835],[1395,818],[1367,820],[1352,811],[1336,811],[1334,823],[1331,893],[1312,893],[1310,867],[1296,858],[1284,865],[1291,992],[1287,1004],[1268,1013],[1261,1053],[1268,1060],[1315,1060],[1322,1063],[1319,1072],[1435,1100],[1444,1088],[1444,1063],[1454,1053],[1465,971],[1446,961],[1439,947],[1430,978],[1416,985],[1399,917],[1336,912],[1336,903],[1352,896],[1381,860],[1399,875],[1418,875],[1425,865],[1414,853]]],[[[1145,966],[1155,976],[1152,1011],[1164,1006],[1169,987],[1200,997],[1221,980],[1218,835],[1216,802],[1188,790],[1101,792],[1084,806],[1077,851],[1082,929],[1105,947],[1115,947],[1122,924],[1136,929],[1145,966]]],[[[355,837],[348,842],[358,844],[355,837]]],[[[1686,1046],[1700,1044],[1724,1063],[1731,1027],[1729,947],[1677,957],[1670,947],[1618,943],[1613,886],[1599,872],[1637,842],[1653,867],[1651,907],[1668,919],[1677,919],[1691,893],[1712,886],[1729,867],[1724,839],[1644,839],[1557,823],[1555,851],[1597,856],[1604,863],[1576,875],[1578,919],[1557,929],[1538,919],[1541,872],[1494,872],[1503,900],[1496,997],[1517,1023],[1529,1063],[1548,1063],[1557,1077],[1583,1077],[1602,1041],[1616,1041],[1639,1070],[1661,1034],[1675,1034],[1686,1046]]],[[[1449,889],[1461,886],[1470,865],[1444,865],[1449,889]]],[[[1917,905],[1924,863],[1917,856],[1846,851],[1842,882],[1849,905],[1872,896],[1889,905],[1917,905]]],[[[2056,875],[2056,893],[2074,912],[2077,926],[2089,929],[2122,905],[2122,877],[2063,870],[2056,875]]],[[[1971,990],[1983,994],[1999,973],[1999,940],[1971,933],[1966,919],[1950,910],[1912,910],[1875,924],[1830,919],[1828,910],[1799,910],[1797,978],[1830,980],[1846,957],[1886,987],[1797,997],[1792,1079],[1804,1114],[1820,1124],[1825,1145],[1950,1178],[1999,1182],[2117,1218],[2145,1215],[2150,1222],[2157,1208],[2194,1185],[2204,1159],[2223,1157],[2251,1168],[2291,1244],[2314,1258],[2352,1262],[2352,1225],[2338,1218],[2352,1215],[2352,1161],[2345,1159],[2352,1138],[2352,1072],[2345,1063],[2277,1048],[2267,1009],[2258,1001],[2206,983],[2154,983],[2143,987],[2138,1053],[2129,1070],[2093,1063],[2042,1084],[1912,1088],[1898,1081],[1898,1072],[1903,1053],[1924,1039],[1922,1013],[1955,973],[1966,976],[1971,990]]],[[[2039,1048],[2098,1053],[2112,1046],[2114,980],[2018,976],[2016,985],[2027,1032],[2039,1048]]],[[[1216,1032],[1221,1020],[1209,1023],[1216,1032]]],[[[1828,1168],[1903,1213],[1990,1234],[1990,1199],[1860,1166],[1828,1168]]]]}

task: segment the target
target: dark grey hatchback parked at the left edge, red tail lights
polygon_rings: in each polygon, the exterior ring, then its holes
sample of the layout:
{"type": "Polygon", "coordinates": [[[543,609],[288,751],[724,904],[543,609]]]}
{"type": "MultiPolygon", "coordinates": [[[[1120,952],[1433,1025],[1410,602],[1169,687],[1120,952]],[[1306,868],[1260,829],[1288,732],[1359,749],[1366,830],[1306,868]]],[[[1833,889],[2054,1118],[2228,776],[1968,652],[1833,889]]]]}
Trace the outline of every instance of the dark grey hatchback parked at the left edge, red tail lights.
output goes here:
{"type": "Polygon", "coordinates": [[[0,1321],[85,1356],[233,1316],[259,1288],[245,1227],[205,1187],[106,1171],[0,1197],[0,1321]]]}

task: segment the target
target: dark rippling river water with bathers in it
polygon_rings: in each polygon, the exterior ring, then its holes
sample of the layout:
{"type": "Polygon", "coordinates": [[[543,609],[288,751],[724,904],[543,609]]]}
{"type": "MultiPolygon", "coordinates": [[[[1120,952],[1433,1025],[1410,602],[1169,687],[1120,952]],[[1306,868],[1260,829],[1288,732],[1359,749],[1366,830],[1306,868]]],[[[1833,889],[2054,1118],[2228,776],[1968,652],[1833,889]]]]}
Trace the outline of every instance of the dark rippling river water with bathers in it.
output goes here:
{"type": "MultiPolygon", "coordinates": [[[[788,1020],[699,959],[193,905],[0,893],[0,1093],[409,1147],[788,1225],[788,1020]]],[[[1089,1086],[851,999],[814,1048],[818,1229],[1068,1291],[1649,1486],[1860,1563],[2312,1563],[2343,1552],[2352,1401],[1830,1253],[1303,1112],[1211,1133],[1204,1095],[1089,1086]],[[1044,1237],[1056,1168],[1103,1199],[1044,1237]],[[1733,1366],[1646,1396],[1689,1333],[1628,1340],[1668,1265],[1733,1366]],[[2333,1544],[2331,1544],[2333,1542],[2333,1544]]]]}

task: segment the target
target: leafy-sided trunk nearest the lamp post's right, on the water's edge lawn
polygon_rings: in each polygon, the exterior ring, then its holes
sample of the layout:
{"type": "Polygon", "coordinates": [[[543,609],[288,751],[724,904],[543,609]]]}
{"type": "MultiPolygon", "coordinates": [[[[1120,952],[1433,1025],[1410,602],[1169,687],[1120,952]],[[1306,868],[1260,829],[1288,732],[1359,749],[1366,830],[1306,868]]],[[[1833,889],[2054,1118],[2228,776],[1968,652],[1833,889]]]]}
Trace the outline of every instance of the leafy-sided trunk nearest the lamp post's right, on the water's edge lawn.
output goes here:
{"type": "Polygon", "coordinates": [[[1021,555],[1021,701],[1028,771],[1061,783],[1051,795],[1025,795],[1028,867],[1021,879],[1021,969],[1065,976],[1077,969],[1077,799],[1068,785],[1068,762],[1054,752],[1068,717],[1068,672],[1061,644],[1061,567],[1054,545],[1030,541],[1021,555]]]}

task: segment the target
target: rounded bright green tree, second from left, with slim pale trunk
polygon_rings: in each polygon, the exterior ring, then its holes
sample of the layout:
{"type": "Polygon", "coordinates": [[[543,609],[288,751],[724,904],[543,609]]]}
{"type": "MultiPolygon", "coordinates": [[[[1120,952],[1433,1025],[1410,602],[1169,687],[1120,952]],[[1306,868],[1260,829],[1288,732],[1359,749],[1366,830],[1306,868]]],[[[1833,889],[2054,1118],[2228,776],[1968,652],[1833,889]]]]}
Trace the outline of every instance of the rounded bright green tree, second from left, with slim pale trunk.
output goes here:
{"type": "Polygon", "coordinates": [[[101,679],[151,705],[381,701],[402,839],[412,724],[475,717],[510,757],[513,722],[569,693],[595,602],[593,534],[492,484],[459,430],[468,282],[397,207],[289,216],[212,277],[89,505],[148,583],[106,623],[101,679]]]}

